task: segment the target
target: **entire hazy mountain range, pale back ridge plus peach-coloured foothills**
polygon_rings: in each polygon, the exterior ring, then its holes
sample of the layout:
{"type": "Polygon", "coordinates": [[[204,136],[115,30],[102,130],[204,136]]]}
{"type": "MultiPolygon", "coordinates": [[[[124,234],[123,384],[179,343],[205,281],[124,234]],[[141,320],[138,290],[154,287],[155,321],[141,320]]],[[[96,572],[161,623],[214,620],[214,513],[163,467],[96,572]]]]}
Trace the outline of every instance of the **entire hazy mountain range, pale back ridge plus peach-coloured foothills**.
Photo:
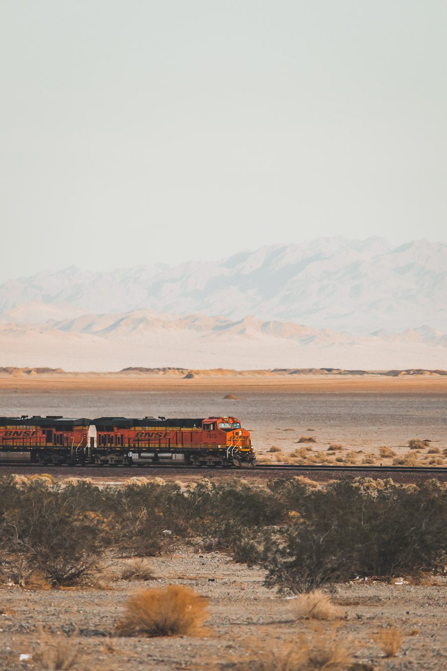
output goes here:
{"type": "Polygon", "coordinates": [[[0,287],[0,365],[446,368],[446,268],[442,243],[322,238],[39,272],[0,287]]]}

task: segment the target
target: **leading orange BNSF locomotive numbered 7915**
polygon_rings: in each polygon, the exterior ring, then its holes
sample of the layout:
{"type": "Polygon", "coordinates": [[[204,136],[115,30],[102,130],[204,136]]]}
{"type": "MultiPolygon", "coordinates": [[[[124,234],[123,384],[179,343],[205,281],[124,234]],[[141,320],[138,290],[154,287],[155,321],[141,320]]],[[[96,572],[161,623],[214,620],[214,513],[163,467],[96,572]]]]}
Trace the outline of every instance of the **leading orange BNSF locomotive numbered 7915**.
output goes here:
{"type": "Polygon", "coordinates": [[[254,466],[249,431],[236,417],[100,417],[90,427],[92,461],[105,464],[254,466]]]}

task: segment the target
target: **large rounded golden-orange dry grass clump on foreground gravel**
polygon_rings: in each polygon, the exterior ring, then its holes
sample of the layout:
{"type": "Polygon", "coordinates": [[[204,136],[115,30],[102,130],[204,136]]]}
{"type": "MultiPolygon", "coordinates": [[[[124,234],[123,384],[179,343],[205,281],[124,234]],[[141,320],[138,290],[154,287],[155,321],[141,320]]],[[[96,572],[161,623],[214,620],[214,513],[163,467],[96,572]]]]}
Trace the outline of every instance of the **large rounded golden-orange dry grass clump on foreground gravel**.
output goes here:
{"type": "Polygon", "coordinates": [[[119,636],[194,636],[202,633],[208,599],[182,585],[137,592],[117,623],[119,636]]]}

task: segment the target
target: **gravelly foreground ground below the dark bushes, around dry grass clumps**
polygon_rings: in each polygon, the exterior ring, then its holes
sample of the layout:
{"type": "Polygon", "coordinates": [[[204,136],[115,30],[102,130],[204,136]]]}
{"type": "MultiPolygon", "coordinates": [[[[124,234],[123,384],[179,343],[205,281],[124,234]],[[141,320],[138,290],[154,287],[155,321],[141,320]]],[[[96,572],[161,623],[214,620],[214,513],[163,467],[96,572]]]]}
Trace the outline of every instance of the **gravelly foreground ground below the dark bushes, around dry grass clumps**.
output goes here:
{"type": "MultiPolygon", "coordinates": [[[[307,638],[327,646],[327,637],[348,648],[358,668],[447,669],[447,580],[415,585],[354,582],[336,588],[333,601],[342,617],[335,621],[294,621],[292,600],[262,586],[263,573],[235,564],[218,552],[200,554],[182,548],[172,556],[147,560],[155,578],[129,582],[120,576],[127,560],[110,560],[101,584],[50,590],[0,589],[0,668],[18,671],[36,666],[36,652],[57,647],[72,668],[127,671],[137,668],[219,670],[235,668],[263,648],[307,638]],[[136,590],[183,584],[209,599],[206,635],[201,637],[117,637],[115,623],[136,590]],[[385,658],[373,641],[379,629],[398,627],[403,643],[397,656],[385,658]],[[20,655],[29,658],[20,661],[20,655]]],[[[44,668],[69,668],[46,666],[44,668]]],[[[273,671],[273,668],[272,668],[273,671]]]]}

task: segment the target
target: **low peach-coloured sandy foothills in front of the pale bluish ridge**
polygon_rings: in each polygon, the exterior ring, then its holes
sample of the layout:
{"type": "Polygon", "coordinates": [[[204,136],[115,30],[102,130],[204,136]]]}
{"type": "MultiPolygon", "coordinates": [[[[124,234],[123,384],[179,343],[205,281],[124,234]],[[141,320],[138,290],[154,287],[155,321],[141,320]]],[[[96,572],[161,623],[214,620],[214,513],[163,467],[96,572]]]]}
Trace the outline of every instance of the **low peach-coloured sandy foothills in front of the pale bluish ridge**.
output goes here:
{"type": "Polygon", "coordinates": [[[119,370],[188,368],[446,368],[447,335],[430,327],[350,335],[245,317],[86,314],[45,324],[0,325],[3,366],[119,370]]]}

